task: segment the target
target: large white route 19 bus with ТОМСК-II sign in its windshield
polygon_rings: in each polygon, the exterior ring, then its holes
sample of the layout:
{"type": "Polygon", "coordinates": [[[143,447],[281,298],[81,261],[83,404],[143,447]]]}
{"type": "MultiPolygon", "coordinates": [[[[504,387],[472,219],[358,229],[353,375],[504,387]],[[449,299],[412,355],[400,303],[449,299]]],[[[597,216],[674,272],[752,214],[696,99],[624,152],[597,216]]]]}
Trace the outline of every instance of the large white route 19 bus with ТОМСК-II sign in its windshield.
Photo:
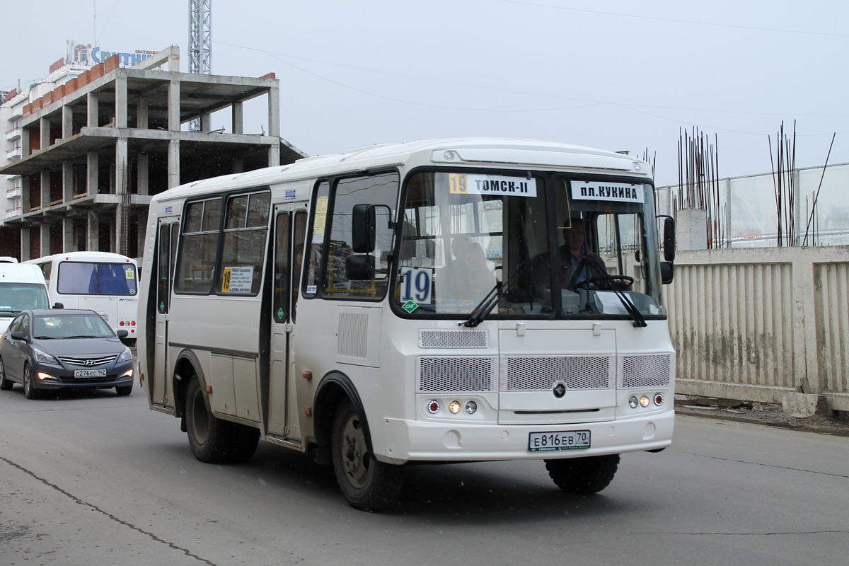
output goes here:
{"type": "Polygon", "coordinates": [[[539,460],[595,493],[672,441],[654,193],[626,155],[475,138],[167,190],[139,288],[149,406],[202,462],[312,451],[363,510],[414,462],[539,460]]]}

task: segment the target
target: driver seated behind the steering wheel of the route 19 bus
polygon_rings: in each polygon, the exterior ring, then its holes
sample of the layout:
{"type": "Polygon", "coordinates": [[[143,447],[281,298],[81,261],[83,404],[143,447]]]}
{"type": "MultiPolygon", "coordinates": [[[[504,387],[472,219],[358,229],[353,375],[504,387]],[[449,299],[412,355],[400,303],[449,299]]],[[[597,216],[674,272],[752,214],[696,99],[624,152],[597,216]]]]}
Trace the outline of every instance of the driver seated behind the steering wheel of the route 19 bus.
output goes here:
{"type": "MultiPolygon", "coordinates": [[[[593,253],[584,243],[584,227],[580,218],[572,218],[571,225],[563,228],[563,245],[558,248],[562,274],[560,285],[563,289],[573,289],[576,283],[582,283],[594,277],[604,277],[607,269],[601,256],[593,253]]],[[[548,289],[550,285],[551,262],[548,254],[537,255],[533,278],[537,289],[548,289]]]]}

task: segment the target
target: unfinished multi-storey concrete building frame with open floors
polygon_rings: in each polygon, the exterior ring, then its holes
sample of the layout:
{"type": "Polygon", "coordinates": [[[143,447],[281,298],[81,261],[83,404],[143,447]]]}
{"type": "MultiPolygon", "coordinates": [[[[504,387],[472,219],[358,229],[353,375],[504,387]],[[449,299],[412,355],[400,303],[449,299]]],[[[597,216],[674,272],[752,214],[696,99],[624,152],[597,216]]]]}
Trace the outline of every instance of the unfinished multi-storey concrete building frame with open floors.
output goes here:
{"type": "MultiPolygon", "coordinates": [[[[291,163],[303,154],[279,137],[279,84],[178,69],[177,48],[119,68],[117,55],[25,104],[20,159],[20,259],[75,250],[137,257],[150,197],[184,182],[291,163]],[[267,132],[244,132],[243,104],[267,98],[267,132]],[[211,115],[230,110],[230,127],[211,115]],[[200,131],[188,131],[200,120],[200,131]]],[[[256,104],[256,103],[255,103],[256,104]]],[[[219,118],[220,119],[220,118],[219,118]]]]}

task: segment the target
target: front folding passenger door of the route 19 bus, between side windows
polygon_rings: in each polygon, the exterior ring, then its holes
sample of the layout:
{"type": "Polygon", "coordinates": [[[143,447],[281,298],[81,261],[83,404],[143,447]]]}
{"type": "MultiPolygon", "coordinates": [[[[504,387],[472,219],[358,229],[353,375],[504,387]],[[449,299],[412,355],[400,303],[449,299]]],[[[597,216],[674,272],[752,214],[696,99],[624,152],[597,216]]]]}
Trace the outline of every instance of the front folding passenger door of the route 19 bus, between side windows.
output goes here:
{"type": "Polygon", "coordinates": [[[267,434],[300,440],[295,408],[295,320],[306,238],[306,210],[276,207],[274,221],[274,276],[271,317],[271,374],[268,386],[267,434]]]}

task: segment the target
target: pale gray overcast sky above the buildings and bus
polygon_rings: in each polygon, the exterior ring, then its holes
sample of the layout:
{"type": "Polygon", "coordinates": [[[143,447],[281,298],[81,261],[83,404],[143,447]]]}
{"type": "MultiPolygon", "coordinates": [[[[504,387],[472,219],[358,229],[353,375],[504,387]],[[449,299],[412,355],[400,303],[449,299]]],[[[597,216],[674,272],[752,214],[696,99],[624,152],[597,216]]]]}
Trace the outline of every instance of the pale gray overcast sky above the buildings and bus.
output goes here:
{"type": "MultiPolygon", "coordinates": [[[[69,39],[177,44],[188,71],[188,0],[0,0],[0,15],[0,90],[46,76],[69,39]]],[[[770,171],[781,120],[797,166],[823,165],[835,132],[829,163],[849,162],[847,47],[837,0],[212,0],[212,72],[276,73],[281,135],[308,154],[536,138],[648,149],[658,184],[677,182],[693,126],[718,137],[721,177],[770,171]]],[[[261,109],[245,122],[260,132],[261,109]]]]}

